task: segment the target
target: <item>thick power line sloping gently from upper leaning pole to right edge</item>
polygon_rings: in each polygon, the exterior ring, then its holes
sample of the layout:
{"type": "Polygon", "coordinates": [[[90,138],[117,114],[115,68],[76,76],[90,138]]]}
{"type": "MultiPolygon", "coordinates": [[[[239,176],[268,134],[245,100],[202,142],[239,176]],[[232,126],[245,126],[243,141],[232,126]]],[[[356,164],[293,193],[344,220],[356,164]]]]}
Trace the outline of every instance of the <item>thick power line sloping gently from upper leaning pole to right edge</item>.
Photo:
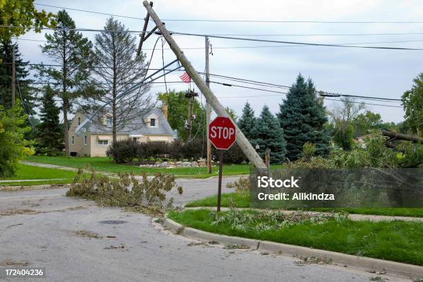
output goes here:
{"type": "Polygon", "coordinates": [[[403,47],[383,47],[383,46],[351,46],[347,44],[319,44],[319,43],[309,43],[309,42],[295,42],[295,41],[278,41],[278,40],[267,40],[267,39],[254,39],[254,38],[244,38],[244,37],[226,37],[219,35],[200,35],[197,33],[186,33],[186,32],[173,32],[176,35],[188,35],[196,37],[213,37],[220,39],[232,39],[232,40],[241,40],[241,41],[255,41],[255,42],[269,42],[269,43],[281,43],[281,44],[297,44],[304,46],[326,46],[326,47],[344,47],[344,48],[366,48],[366,49],[386,49],[386,50],[423,50],[422,48],[403,48],[403,47]]]}

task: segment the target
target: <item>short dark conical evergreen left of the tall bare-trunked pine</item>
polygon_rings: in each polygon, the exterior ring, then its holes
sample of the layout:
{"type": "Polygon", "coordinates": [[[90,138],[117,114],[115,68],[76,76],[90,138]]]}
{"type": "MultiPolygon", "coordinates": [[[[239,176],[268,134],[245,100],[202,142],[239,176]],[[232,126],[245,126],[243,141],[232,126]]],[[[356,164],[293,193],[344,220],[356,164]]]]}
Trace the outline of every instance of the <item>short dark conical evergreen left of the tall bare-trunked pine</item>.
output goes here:
{"type": "Polygon", "coordinates": [[[56,156],[64,149],[62,127],[59,123],[60,109],[56,106],[55,93],[50,86],[46,86],[41,99],[39,113],[41,123],[37,126],[37,153],[56,156]]]}

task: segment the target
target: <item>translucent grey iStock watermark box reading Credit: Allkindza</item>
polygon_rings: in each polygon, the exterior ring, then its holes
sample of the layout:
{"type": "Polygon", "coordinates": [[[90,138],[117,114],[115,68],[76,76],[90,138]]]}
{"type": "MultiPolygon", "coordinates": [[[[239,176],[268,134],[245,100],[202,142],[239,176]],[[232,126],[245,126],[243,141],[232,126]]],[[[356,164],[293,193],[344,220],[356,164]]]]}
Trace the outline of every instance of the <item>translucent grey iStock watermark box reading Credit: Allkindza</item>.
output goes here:
{"type": "Polygon", "coordinates": [[[423,169],[254,169],[252,207],[423,207],[423,169]]]}

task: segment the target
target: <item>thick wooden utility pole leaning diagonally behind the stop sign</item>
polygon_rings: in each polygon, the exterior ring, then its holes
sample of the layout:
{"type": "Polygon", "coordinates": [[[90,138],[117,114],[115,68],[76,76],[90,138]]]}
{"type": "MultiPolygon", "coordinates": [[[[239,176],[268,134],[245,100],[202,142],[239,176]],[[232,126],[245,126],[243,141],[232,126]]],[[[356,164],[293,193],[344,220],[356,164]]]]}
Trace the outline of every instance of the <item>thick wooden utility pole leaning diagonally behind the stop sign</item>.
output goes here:
{"type": "MultiPolygon", "coordinates": [[[[162,23],[162,21],[160,21],[160,18],[158,17],[158,15],[156,15],[156,12],[154,12],[153,8],[151,8],[149,2],[144,1],[142,2],[142,4],[149,12],[151,19],[153,19],[153,21],[156,23],[156,26],[160,30],[160,33],[162,34],[164,39],[166,39],[167,43],[169,44],[173,53],[175,53],[179,62],[182,64],[182,66],[184,66],[185,71],[187,71],[189,77],[194,80],[195,84],[200,89],[201,93],[203,93],[209,104],[213,107],[214,111],[216,111],[218,115],[230,118],[232,120],[229,113],[227,113],[225,108],[218,101],[216,95],[214,95],[210,88],[207,87],[207,85],[200,77],[200,75],[198,75],[197,71],[191,65],[187,57],[185,57],[184,53],[182,53],[182,50],[180,50],[176,41],[173,40],[167,29],[164,27],[164,24],[162,23]]],[[[247,156],[248,160],[250,160],[250,162],[252,162],[252,164],[254,164],[257,169],[264,169],[265,171],[267,171],[267,167],[265,166],[263,160],[260,158],[259,154],[254,150],[250,142],[245,137],[243,131],[241,131],[238,126],[236,126],[236,143],[239,147],[241,147],[241,150],[243,151],[243,153],[245,153],[245,156],[247,156]]]]}

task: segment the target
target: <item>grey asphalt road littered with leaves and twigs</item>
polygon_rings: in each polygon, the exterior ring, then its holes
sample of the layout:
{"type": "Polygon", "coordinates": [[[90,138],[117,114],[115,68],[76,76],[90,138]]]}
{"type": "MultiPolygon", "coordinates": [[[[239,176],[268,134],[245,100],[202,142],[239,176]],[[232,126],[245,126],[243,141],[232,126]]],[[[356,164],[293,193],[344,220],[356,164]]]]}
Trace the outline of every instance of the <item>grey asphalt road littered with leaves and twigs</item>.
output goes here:
{"type": "MultiPolygon", "coordinates": [[[[216,179],[181,181],[184,194],[171,192],[177,205],[216,194],[216,179]]],[[[296,258],[254,250],[189,246],[192,240],[169,234],[149,216],[97,207],[92,201],[67,198],[65,191],[0,192],[0,267],[45,267],[45,278],[26,281],[358,282],[377,276],[337,265],[298,266],[296,258]],[[104,220],[124,223],[100,223],[104,220]]]]}

